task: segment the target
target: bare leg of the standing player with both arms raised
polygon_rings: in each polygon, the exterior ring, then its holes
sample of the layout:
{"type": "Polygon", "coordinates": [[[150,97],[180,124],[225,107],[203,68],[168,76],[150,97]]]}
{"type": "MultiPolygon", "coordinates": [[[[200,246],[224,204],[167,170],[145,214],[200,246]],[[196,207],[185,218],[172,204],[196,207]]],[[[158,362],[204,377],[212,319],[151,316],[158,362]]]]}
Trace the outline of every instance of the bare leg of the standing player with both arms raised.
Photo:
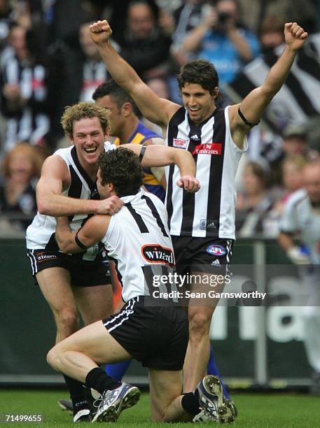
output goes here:
{"type": "MultiPolygon", "coordinates": [[[[203,273],[192,273],[202,276],[203,273]]],[[[206,274],[206,275],[209,275],[206,274]]],[[[222,292],[224,285],[216,285],[215,291],[222,292]]],[[[188,307],[189,342],[183,365],[183,392],[195,390],[197,384],[207,373],[210,354],[210,324],[218,299],[210,299],[199,306],[199,299],[190,299],[188,307]]]]}

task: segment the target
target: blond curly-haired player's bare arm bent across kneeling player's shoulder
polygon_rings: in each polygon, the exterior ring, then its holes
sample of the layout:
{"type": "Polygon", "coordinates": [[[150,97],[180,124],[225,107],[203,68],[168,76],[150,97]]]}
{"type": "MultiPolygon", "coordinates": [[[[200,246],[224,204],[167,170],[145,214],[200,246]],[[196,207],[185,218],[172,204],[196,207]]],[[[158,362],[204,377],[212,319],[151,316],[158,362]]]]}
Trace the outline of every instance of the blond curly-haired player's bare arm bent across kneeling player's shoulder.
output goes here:
{"type": "Polygon", "coordinates": [[[54,155],[43,163],[41,178],[36,186],[36,201],[39,213],[58,217],[74,214],[113,214],[123,202],[118,197],[85,200],[65,197],[61,193],[70,185],[70,173],[62,157],[54,155]]]}

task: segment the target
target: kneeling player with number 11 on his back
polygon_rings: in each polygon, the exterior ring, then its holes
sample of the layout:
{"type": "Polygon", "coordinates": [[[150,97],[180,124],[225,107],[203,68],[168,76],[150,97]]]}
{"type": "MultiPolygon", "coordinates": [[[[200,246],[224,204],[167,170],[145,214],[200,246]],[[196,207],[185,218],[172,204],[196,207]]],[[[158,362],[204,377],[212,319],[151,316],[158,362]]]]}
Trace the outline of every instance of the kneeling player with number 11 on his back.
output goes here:
{"type": "MultiPolygon", "coordinates": [[[[139,159],[130,150],[106,152],[99,157],[99,194],[104,198],[117,195],[123,208],[112,216],[95,215],[77,231],[70,229],[67,217],[57,219],[60,249],[81,252],[102,242],[110,259],[116,262],[123,286],[125,306],[118,314],[57,343],[47,357],[54,369],[101,394],[92,422],[117,420],[121,411],[137,403],[140,394],[137,387],[111,378],[98,364],[134,357],[148,367],[151,415],[155,421],[190,420],[193,411],[188,408],[202,408],[210,414],[220,394],[221,385],[214,376],[207,375],[195,391],[181,395],[188,315],[175,299],[168,304],[169,299],[150,296],[153,275],[166,275],[174,269],[174,252],[165,206],[141,188],[142,177],[139,159]]],[[[173,288],[167,284],[165,287],[170,294],[173,288]]],[[[222,401],[218,411],[221,417],[226,413],[222,401]]]]}

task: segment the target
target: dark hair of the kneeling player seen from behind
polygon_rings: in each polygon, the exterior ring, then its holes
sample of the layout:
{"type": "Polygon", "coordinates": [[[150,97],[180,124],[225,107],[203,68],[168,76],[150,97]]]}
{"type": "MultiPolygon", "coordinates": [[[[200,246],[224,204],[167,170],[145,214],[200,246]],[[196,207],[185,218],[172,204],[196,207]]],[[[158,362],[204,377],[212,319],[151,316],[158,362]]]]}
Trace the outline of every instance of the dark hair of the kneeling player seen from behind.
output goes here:
{"type": "Polygon", "coordinates": [[[112,183],[118,197],[136,194],[142,185],[143,172],[139,157],[126,148],[102,153],[99,157],[102,185],[112,183]]]}

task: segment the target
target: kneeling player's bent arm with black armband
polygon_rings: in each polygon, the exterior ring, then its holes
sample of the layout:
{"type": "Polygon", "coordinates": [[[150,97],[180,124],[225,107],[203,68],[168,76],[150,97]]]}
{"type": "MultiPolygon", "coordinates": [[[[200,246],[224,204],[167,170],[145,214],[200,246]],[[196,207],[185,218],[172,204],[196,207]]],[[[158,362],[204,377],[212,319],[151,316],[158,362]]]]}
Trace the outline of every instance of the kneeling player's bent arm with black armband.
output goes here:
{"type": "Polygon", "coordinates": [[[67,217],[57,217],[55,239],[65,254],[83,252],[102,240],[109,226],[109,215],[94,215],[77,231],[71,231],[67,217]]]}

